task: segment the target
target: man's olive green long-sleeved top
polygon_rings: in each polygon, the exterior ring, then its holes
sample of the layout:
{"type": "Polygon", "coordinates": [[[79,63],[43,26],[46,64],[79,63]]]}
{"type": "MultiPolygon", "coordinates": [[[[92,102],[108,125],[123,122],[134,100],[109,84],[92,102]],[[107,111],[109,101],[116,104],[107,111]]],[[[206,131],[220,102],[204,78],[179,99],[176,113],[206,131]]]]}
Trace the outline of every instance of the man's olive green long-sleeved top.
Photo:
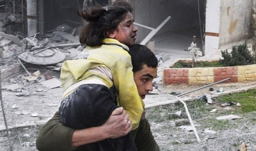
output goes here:
{"type": "MultiPolygon", "coordinates": [[[[72,135],[75,130],[64,126],[59,120],[59,112],[42,127],[37,140],[36,148],[40,151],[72,151],[72,150],[91,150],[90,148],[80,146],[74,148],[72,146],[72,135]]],[[[154,140],[151,133],[148,120],[140,120],[138,129],[132,131],[135,136],[135,144],[138,151],[159,151],[159,146],[154,140]]]]}

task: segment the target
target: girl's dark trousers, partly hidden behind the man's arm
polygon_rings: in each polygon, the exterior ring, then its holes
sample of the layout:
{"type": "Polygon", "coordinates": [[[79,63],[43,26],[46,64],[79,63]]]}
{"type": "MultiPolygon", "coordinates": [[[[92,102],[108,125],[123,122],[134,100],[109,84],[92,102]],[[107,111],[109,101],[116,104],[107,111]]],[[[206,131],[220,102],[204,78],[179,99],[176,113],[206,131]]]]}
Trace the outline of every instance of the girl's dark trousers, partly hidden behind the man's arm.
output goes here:
{"type": "MultiPolygon", "coordinates": [[[[59,107],[61,122],[73,129],[85,129],[104,124],[113,110],[118,108],[114,90],[100,84],[80,85],[63,98],[59,107]]],[[[137,150],[130,133],[120,138],[109,138],[86,146],[95,151],[137,150]]]]}

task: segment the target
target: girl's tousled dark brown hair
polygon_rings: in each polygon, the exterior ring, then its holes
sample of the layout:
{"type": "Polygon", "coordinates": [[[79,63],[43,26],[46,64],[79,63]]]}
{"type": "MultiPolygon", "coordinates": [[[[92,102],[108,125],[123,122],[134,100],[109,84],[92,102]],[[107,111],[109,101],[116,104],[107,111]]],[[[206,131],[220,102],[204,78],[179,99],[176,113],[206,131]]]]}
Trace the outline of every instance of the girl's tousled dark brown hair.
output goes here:
{"type": "Polygon", "coordinates": [[[107,38],[106,31],[116,30],[129,12],[132,13],[132,6],[123,0],[105,7],[97,4],[83,11],[77,10],[78,15],[87,21],[80,31],[80,43],[90,47],[101,46],[102,40],[107,38]]]}

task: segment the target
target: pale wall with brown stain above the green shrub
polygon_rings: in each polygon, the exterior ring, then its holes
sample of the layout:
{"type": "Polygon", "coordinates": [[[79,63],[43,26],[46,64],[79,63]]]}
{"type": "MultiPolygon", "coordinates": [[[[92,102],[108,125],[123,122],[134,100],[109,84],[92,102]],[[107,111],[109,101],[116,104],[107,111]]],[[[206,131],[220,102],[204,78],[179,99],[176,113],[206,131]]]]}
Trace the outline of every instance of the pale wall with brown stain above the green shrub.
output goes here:
{"type": "Polygon", "coordinates": [[[252,0],[222,0],[220,9],[220,47],[250,38],[252,0]]]}

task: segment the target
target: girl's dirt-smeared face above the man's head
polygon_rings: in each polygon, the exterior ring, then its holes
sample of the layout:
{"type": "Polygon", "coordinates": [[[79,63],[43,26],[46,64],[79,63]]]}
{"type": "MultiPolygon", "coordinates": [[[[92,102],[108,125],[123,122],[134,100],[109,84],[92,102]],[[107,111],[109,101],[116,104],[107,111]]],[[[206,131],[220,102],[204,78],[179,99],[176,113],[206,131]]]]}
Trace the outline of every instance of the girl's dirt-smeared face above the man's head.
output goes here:
{"type": "Polygon", "coordinates": [[[113,34],[120,43],[129,46],[135,44],[137,31],[138,28],[133,24],[132,13],[127,13],[126,17],[118,24],[117,29],[113,31],[113,34]]]}

